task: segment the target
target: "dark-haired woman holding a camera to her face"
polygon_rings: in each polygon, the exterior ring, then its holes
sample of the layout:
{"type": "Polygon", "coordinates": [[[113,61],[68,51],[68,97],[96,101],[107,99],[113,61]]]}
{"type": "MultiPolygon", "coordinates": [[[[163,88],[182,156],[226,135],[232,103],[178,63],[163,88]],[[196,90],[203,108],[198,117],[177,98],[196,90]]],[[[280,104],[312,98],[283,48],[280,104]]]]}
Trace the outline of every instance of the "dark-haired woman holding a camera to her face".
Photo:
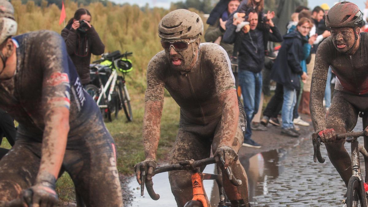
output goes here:
{"type": "Polygon", "coordinates": [[[80,8],[75,11],[74,17],[61,31],[61,36],[65,40],[68,54],[77,69],[82,85],[88,84],[91,80],[89,77],[91,53],[101,55],[105,50],[105,45],[103,45],[95,28],[89,23],[90,21],[89,11],[80,8]]]}

